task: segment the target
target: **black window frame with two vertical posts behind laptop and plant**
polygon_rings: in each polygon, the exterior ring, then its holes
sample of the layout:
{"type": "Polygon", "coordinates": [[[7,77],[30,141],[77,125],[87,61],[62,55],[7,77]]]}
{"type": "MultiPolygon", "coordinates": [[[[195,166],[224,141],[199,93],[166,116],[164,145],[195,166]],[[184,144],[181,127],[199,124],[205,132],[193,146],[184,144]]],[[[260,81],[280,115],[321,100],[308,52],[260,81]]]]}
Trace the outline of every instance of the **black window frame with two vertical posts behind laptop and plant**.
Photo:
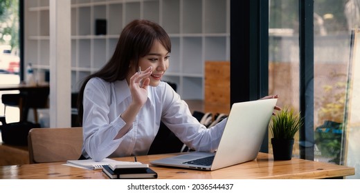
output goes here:
{"type": "MultiPolygon", "coordinates": [[[[300,141],[314,144],[314,2],[299,3],[300,141]],[[307,19],[311,18],[311,19],[307,19]],[[305,98],[308,92],[309,98],[305,98]],[[309,113],[305,114],[305,111],[309,113]],[[306,125],[306,126],[305,126],[306,125]]],[[[231,1],[231,105],[269,93],[269,0],[231,1]]],[[[269,152],[268,133],[260,152],[269,152]]],[[[314,146],[300,145],[300,158],[314,160],[314,146]]]]}

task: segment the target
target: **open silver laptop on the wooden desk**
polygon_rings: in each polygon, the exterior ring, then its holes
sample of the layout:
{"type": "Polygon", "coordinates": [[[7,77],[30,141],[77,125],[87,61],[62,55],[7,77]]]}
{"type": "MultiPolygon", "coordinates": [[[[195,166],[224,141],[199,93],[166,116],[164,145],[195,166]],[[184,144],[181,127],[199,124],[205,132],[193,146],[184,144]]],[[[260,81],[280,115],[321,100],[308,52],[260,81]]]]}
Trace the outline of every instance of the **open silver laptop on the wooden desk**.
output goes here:
{"type": "Polygon", "coordinates": [[[258,156],[277,99],[234,103],[216,152],[188,152],[150,161],[152,165],[217,170],[258,156]]]}

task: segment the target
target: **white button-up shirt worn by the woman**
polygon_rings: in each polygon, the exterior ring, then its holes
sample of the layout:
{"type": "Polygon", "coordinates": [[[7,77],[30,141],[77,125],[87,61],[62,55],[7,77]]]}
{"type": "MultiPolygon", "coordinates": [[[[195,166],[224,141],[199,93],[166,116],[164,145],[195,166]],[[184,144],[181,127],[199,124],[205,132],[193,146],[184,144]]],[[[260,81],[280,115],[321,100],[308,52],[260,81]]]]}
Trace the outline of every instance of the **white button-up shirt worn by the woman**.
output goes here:
{"type": "Polygon", "coordinates": [[[120,139],[115,139],[125,126],[121,119],[132,102],[127,81],[109,83],[93,78],[84,90],[82,154],[100,161],[106,157],[145,155],[159,130],[160,121],[188,147],[197,151],[213,152],[219,145],[226,120],[207,129],[192,116],[188,105],[170,85],[161,82],[147,87],[145,105],[136,116],[132,128],[120,139]]]}

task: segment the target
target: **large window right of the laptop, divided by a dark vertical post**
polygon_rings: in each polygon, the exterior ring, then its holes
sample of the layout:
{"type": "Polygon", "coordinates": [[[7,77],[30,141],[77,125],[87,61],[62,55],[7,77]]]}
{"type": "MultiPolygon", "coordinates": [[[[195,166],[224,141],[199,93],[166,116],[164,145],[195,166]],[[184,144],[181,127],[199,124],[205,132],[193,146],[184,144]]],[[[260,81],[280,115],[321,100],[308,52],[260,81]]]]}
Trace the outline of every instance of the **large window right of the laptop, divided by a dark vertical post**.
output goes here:
{"type": "MultiPolygon", "coordinates": [[[[360,145],[356,141],[360,138],[360,121],[354,116],[357,104],[352,102],[359,90],[353,85],[358,75],[357,65],[352,63],[352,32],[360,27],[360,1],[309,2],[314,4],[305,7],[304,1],[269,1],[269,94],[280,94],[282,106],[305,109],[309,121],[303,130],[305,138],[301,139],[301,132],[297,137],[294,156],[310,153],[312,156],[305,155],[306,159],[359,170],[360,145]],[[301,23],[305,17],[313,17],[311,32],[301,31],[306,28],[301,23]],[[305,44],[299,41],[302,38],[305,44]],[[314,51],[302,59],[305,45],[312,45],[314,51]],[[302,83],[307,85],[303,90],[302,83]],[[303,99],[305,108],[300,105],[303,99]],[[312,152],[302,152],[307,148],[312,152]]],[[[347,178],[359,179],[359,172],[355,173],[347,178]]]]}

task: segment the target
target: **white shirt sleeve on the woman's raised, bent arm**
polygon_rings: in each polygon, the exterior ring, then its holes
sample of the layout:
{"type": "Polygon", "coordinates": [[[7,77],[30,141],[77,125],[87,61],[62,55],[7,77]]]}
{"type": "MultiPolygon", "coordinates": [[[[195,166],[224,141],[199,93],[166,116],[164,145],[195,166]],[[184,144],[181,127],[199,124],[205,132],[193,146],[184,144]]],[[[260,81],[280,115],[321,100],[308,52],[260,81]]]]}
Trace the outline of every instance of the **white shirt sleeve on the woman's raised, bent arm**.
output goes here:
{"type": "Polygon", "coordinates": [[[101,161],[113,153],[122,139],[115,139],[125,126],[125,121],[118,118],[109,122],[109,88],[106,83],[91,79],[84,90],[83,115],[83,150],[95,161],[101,161]]]}

